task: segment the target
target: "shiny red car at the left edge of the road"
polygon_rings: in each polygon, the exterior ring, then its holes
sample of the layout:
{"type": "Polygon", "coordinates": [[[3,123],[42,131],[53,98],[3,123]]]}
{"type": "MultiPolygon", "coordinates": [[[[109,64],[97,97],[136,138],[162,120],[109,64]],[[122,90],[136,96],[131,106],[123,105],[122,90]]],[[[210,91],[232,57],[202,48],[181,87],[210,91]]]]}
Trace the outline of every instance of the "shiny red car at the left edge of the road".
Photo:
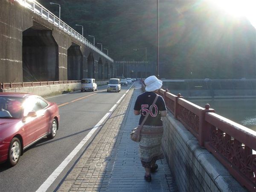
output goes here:
{"type": "Polygon", "coordinates": [[[54,138],[58,106],[29,93],[0,93],[0,163],[15,166],[24,149],[47,136],[54,138]]]}

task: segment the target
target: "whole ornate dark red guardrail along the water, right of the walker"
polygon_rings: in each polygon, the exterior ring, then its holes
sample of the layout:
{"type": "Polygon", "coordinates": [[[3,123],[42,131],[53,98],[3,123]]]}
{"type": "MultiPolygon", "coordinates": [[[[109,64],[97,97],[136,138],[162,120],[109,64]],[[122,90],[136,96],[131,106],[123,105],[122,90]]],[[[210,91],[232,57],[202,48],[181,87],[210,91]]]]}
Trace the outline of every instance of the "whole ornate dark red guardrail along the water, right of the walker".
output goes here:
{"type": "MultiPolygon", "coordinates": [[[[145,84],[142,81],[142,89],[145,84]]],[[[256,191],[256,131],[160,89],[166,107],[248,190],[256,191]]]]}

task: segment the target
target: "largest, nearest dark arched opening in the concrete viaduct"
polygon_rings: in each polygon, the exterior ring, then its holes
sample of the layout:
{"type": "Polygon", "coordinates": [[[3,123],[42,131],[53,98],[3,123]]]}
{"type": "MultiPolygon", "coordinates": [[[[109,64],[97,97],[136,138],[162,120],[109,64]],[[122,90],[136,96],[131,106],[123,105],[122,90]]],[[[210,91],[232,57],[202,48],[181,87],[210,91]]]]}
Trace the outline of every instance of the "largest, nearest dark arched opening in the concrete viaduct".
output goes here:
{"type": "Polygon", "coordinates": [[[22,33],[23,82],[58,81],[58,44],[52,31],[33,26],[22,33]]]}

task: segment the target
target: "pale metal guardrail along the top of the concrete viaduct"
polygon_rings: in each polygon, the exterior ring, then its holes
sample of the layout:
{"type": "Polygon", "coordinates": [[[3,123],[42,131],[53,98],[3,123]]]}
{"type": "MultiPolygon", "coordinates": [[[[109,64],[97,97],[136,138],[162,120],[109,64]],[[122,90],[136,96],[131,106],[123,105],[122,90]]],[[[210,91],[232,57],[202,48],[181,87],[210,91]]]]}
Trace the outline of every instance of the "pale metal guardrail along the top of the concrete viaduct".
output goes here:
{"type": "Polygon", "coordinates": [[[58,26],[59,29],[63,30],[64,32],[68,33],[72,37],[76,38],[83,44],[85,44],[87,47],[93,49],[100,55],[104,56],[105,58],[108,58],[110,61],[113,62],[113,59],[110,58],[108,55],[106,55],[104,52],[102,52],[100,49],[95,47],[93,44],[90,43],[86,38],[84,38],[82,35],[80,35],[76,30],[74,30],[72,27],[68,26],[67,23],[60,20],[58,17],[56,17],[52,12],[50,12],[48,9],[46,9],[44,6],[42,6],[40,3],[38,3],[35,0],[16,0],[20,3],[20,5],[30,9],[32,12],[34,12],[37,15],[40,15],[42,18],[48,20],[50,23],[54,24],[55,26],[58,26]]]}

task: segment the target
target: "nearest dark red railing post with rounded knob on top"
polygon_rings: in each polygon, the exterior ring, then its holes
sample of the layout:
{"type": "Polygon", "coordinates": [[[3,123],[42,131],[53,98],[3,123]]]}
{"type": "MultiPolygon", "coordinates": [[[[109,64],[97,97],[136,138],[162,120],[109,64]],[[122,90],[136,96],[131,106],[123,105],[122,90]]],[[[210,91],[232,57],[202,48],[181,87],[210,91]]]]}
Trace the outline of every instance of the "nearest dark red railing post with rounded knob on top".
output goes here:
{"type": "Polygon", "coordinates": [[[198,128],[198,143],[201,147],[204,147],[204,142],[207,138],[208,132],[207,123],[205,122],[205,113],[206,112],[215,112],[214,109],[210,109],[210,105],[206,104],[204,109],[200,111],[199,115],[199,128],[198,128]]]}

